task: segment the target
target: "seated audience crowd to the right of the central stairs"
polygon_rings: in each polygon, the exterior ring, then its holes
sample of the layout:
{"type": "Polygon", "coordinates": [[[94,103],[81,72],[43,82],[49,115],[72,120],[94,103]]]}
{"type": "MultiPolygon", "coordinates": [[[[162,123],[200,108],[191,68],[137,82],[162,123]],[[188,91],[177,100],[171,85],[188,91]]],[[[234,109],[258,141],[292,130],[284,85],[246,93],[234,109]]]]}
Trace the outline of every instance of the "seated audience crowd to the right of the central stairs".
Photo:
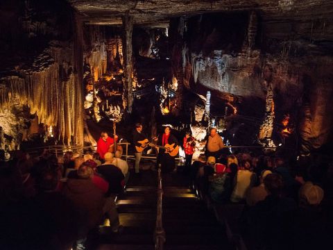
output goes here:
{"type": "Polygon", "coordinates": [[[250,249],[332,249],[332,162],[206,153],[187,172],[209,207],[244,206],[234,216],[250,249]]]}

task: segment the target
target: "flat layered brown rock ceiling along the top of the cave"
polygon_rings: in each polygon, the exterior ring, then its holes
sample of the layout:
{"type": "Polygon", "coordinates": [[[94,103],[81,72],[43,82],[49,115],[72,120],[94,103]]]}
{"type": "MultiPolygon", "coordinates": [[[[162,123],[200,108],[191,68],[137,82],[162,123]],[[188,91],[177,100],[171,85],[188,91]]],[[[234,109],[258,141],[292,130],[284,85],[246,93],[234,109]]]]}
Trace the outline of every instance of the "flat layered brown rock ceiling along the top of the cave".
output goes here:
{"type": "Polygon", "coordinates": [[[171,17],[206,12],[257,10],[263,19],[322,19],[333,15],[332,0],[67,0],[87,24],[121,24],[126,12],[137,25],[167,26],[171,17]]]}

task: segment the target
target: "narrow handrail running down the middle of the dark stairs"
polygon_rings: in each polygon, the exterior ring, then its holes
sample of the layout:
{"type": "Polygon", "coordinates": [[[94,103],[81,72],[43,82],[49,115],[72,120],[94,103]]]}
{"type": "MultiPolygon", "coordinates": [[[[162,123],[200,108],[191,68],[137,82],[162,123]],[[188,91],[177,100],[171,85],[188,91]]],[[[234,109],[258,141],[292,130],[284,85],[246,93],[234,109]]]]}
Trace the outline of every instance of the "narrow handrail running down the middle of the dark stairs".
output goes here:
{"type": "Polygon", "coordinates": [[[157,170],[157,215],[156,215],[156,226],[154,231],[155,250],[163,250],[165,242],[165,231],[162,223],[162,176],[161,176],[161,165],[158,166],[157,170]]]}

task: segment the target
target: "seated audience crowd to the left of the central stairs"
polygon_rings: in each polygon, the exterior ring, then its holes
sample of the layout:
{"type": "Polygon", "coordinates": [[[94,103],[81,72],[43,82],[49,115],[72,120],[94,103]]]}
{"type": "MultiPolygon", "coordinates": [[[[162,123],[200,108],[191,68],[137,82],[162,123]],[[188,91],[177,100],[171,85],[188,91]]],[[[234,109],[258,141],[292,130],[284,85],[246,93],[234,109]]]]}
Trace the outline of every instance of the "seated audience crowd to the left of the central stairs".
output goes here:
{"type": "Polygon", "coordinates": [[[1,249],[85,249],[89,231],[122,231],[115,197],[128,180],[121,152],[15,152],[0,166],[1,249]]]}

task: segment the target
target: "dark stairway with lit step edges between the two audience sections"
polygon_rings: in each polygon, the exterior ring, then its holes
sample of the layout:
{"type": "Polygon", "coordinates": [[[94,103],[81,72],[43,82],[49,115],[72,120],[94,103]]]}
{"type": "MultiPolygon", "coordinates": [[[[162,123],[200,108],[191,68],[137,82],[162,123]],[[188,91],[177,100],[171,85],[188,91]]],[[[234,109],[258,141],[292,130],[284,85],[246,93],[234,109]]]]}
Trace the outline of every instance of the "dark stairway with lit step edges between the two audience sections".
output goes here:
{"type": "MultiPolygon", "coordinates": [[[[231,249],[225,230],[188,188],[186,178],[181,174],[162,178],[163,227],[167,239],[164,249],[231,249]]],[[[157,173],[145,171],[142,176],[131,176],[126,192],[117,201],[123,233],[112,234],[107,226],[101,227],[94,249],[154,249],[156,205],[157,173]]]]}

